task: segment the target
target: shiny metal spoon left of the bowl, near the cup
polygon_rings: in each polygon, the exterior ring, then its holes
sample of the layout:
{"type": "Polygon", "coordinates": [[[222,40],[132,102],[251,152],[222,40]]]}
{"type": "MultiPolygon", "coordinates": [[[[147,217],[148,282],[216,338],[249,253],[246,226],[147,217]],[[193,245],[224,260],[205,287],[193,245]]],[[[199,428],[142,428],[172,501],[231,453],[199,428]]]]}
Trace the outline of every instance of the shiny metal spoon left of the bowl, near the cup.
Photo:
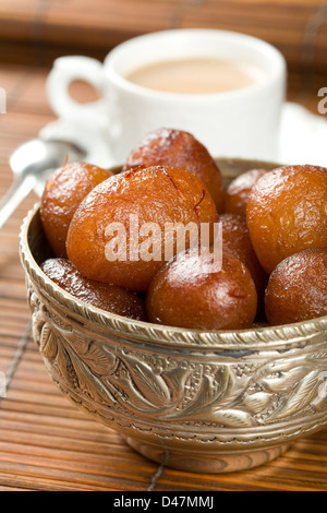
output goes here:
{"type": "Polygon", "coordinates": [[[66,158],[77,162],[83,157],[85,152],[68,141],[33,139],[17,147],[9,160],[14,180],[0,201],[0,228],[33,189],[41,195],[50,174],[66,158]]]}

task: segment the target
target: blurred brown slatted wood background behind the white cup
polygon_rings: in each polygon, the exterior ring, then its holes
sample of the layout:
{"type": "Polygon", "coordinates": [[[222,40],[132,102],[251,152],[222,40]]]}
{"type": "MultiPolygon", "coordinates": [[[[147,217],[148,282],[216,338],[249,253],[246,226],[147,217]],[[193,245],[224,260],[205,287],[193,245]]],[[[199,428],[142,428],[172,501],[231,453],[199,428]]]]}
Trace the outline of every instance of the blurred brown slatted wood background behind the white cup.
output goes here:
{"type": "Polygon", "coordinates": [[[327,2],[319,0],[0,0],[0,86],[8,65],[49,68],[70,53],[102,60],[128,38],[178,27],[275,45],[288,62],[289,97],[317,111],[317,91],[327,85],[327,2]]]}

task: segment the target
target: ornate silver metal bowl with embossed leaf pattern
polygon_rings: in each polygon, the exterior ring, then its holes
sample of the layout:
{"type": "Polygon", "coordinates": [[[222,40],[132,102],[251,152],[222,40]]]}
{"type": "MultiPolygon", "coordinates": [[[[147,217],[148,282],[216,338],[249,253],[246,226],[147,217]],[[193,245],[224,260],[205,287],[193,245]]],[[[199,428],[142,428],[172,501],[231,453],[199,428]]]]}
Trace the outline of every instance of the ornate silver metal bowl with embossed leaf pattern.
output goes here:
{"type": "MultiPolygon", "coordinates": [[[[220,165],[227,180],[252,167],[220,165]]],[[[40,271],[50,253],[37,205],[24,220],[20,250],[33,335],[55,383],[150,460],[235,472],[274,460],[327,425],[327,317],[201,332],[93,308],[40,271]]]]}

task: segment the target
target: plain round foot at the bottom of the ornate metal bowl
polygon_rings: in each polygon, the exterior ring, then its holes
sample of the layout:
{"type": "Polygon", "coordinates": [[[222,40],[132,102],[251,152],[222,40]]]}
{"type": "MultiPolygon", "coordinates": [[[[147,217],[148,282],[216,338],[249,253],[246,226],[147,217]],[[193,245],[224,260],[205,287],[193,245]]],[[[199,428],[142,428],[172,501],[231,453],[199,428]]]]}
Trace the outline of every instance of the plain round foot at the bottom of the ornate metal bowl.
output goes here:
{"type": "Polygon", "coordinates": [[[249,470],[276,460],[291,446],[291,444],[284,443],[268,449],[207,453],[203,451],[181,451],[177,448],[171,449],[148,444],[131,437],[123,438],[136,452],[164,466],[178,470],[208,474],[249,470]]]}

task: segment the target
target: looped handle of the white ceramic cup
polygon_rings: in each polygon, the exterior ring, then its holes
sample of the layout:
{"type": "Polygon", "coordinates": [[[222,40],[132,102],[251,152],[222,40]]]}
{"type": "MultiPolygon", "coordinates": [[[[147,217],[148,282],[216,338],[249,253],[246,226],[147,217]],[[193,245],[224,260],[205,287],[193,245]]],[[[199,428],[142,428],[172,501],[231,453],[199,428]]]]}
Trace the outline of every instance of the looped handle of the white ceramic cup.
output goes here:
{"type": "Polygon", "coordinates": [[[81,127],[104,131],[109,126],[105,108],[106,77],[104,65],[90,57],[60,57],[47,79],[47,95],[55,114],[64,120],[81,127]],[[100,99],[88,104],[75,102],[69,92],[75,80],[87,82],[99,93],[100,99]]]}

